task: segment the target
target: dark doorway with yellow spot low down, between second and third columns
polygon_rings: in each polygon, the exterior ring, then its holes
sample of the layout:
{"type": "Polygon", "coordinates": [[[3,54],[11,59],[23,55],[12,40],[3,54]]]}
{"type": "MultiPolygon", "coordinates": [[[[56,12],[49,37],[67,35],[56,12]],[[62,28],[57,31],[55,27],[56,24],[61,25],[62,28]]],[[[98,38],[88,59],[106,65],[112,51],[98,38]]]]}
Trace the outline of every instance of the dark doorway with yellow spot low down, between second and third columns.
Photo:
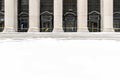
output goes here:
{"type": "Polygon", "coordinates": [[[40,32],[52,32],[53,20],[54,0],[40,0],[40,32]]]}

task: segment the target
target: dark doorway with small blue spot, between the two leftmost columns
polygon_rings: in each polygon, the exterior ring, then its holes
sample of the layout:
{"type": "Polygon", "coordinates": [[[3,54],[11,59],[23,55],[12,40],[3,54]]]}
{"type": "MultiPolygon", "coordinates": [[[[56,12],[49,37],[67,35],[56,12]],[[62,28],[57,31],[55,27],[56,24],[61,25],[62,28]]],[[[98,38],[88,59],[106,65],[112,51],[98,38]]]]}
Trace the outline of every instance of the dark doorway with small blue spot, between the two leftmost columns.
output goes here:
{"type": "Polygon", "coordinates": [[[29,0],[18,0],[18,32],[29,29],[29,0]]]}

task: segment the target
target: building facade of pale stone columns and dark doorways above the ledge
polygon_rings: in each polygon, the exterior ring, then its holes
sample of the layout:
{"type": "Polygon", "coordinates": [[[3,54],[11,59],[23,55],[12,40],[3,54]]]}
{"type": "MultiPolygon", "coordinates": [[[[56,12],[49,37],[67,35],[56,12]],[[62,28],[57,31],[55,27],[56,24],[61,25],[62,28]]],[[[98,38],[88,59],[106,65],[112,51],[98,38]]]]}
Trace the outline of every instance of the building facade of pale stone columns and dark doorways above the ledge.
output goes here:
{"type": "Polygon", "coordinates": [[[0,0],[0,32],[120,32],[120,0],[0,0]]]}

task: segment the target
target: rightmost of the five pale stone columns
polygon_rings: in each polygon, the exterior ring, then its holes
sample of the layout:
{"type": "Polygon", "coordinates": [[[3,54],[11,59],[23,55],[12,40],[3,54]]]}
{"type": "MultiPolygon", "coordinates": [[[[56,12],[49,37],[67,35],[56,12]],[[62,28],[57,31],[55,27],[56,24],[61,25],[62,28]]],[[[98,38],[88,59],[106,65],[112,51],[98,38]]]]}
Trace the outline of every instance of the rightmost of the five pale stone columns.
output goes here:
{"type": "Polygon", "coordinates": [[[113,0],[101,1],[103,32],[113,32],[113,0]]]}

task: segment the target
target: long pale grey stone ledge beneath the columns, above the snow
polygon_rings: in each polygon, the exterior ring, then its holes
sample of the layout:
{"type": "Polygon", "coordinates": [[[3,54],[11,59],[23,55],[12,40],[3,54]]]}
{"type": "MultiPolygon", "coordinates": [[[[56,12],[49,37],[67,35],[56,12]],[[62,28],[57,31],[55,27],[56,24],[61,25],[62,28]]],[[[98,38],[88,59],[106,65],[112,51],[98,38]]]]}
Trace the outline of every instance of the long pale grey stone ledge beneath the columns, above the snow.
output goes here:
{"type": "Polygon", "coordinates": [[[34,39],[34,38],[54,38],[54,39],[72,39],[72,40],[120,40],[120,33],[100,32],[100,33],[0,33],[0,39],[34,39]]]}

